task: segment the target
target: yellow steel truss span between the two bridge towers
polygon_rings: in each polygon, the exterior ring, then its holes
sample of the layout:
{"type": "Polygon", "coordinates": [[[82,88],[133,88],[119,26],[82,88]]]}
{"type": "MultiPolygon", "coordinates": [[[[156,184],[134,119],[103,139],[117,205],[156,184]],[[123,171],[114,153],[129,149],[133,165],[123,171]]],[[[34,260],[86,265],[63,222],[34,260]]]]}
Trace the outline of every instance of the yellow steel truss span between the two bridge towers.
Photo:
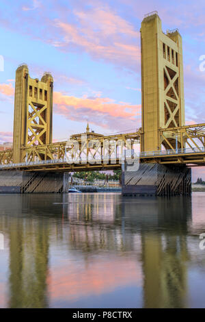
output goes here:
{"type": "MultiPolygon", "coordinates": [[[[126,149],[133,149],[133,144],[136,140],[139,141],[141,137],[141,129],[137,132],[128,134],[113,134],[109,136],[100,136],[97,138],[87,138],[85,134],[81,138],[71,138],[71,140],[51,143],[49,145],[32,145],[20,149],[20,162],[36,162],[43,160],[64,160],[65,156],[70,155],[75,157],[75,160],[87,160],[90,158],[95,159],[96,163],[98,156],[107,156],[107,161],[111,156],[115,156],[115,151],[118,147],[126,146],[126,149]],[[77,145],[77,149],[74,149],[77,145]]],[[[104,158],[105,160],[106,158],[104,158]]],[[[113,159],[112,159],[113,161],[113,159]]],[[[84,163],[85,163],[84,162],[84,163]]],[[[12,163],[12,150],[0,152],[0,164],[12,163]]],[[[100,162],[101,164],[102,162],[100,162]]],[[[109,163],[109,162],[108,162],[109,163]]],[[[85,167],[85,166],[84,166],[85,167]]]]}

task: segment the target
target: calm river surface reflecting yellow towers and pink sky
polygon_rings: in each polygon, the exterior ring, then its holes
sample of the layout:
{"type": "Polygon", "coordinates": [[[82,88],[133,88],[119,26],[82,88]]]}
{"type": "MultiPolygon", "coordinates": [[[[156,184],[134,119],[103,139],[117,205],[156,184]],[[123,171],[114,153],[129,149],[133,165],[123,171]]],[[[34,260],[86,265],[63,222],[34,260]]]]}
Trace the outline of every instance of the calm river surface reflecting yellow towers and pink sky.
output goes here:
{"type": "Polygon", "coordinates": [[[201,233],[205,193],[0,195],[0,308],[204,308],[201,233]]]}

